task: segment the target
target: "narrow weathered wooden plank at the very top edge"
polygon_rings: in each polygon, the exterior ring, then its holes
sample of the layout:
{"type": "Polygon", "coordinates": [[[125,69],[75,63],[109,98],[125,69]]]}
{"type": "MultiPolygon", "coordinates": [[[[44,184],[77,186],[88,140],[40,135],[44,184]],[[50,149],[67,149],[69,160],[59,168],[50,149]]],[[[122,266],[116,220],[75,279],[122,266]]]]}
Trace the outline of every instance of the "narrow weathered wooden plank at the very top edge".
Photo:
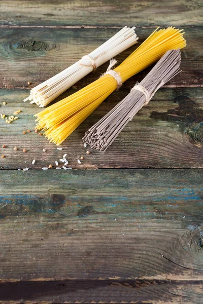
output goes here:
{"type": "Polygon", "coordinates": [[[201,25],[201,1],[2,0],[3,25],[153,26],[201,25]]]}

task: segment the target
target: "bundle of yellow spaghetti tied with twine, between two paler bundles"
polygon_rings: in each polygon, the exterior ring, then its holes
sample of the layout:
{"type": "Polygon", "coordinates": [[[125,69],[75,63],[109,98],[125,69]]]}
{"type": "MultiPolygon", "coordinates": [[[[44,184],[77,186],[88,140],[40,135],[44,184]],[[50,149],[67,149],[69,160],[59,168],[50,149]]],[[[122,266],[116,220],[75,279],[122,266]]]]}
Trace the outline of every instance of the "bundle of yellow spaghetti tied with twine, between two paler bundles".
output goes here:
{"type": "MultiPolygon", "coordinates": [[[[159,60],[166,51],[184,48],[186,41],[183,34],[183,30],[174,27],[157,28],[113,73],[120,76],[123,83],[159,60]]],[[[51,142],[59,145],[117,88],[118,80],[106,73],[75,94],[37,113],[36,128],[43,130],[51,142]]]]}

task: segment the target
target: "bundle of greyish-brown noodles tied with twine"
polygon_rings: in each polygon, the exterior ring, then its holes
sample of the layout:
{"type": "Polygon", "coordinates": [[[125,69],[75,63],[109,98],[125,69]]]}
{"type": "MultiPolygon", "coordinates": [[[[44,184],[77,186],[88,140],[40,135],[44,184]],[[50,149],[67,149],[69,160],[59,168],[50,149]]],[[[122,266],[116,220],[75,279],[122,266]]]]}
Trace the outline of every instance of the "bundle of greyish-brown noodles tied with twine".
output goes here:
{"type": "Polygon", "coordinates": [[[136,84],[118,105],[85,133],[83,141],[92,149],[106,150],[156,91],[180,72],[180,63],[179,49],[167,51],[143,81],[136,84]]]}

